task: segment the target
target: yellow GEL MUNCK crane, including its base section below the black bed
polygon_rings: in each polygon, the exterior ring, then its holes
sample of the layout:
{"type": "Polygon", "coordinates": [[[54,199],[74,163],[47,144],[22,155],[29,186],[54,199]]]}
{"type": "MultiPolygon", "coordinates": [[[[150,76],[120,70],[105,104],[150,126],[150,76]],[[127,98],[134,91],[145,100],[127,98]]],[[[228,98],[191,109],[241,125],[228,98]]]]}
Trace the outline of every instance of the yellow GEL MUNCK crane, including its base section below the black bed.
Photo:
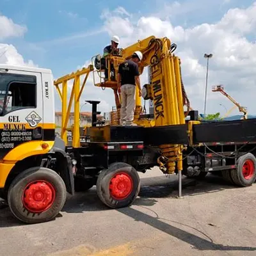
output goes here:
{"type": "MultiPolygon", "coordinates": [[[[131,58],[134,51],[141,51],[143,54],[139,65],[141,74],[143,68],[150,67],[150,84],[144,85],[143,98],[154,102],[155,126],[185,124],[183,107],[187,101],[189,112],[189,100],[181,79],[180,59],[172,53],[171,41],[166,37],[149,36],[125,48],[123,58],[131,58]]],[[[160,148],[162,156],[158,163],[161,170],[173,173],[175,161],[178,162],[177,169],[182,170],[182,146],[168,144],[161,145],[160,148]]]]}

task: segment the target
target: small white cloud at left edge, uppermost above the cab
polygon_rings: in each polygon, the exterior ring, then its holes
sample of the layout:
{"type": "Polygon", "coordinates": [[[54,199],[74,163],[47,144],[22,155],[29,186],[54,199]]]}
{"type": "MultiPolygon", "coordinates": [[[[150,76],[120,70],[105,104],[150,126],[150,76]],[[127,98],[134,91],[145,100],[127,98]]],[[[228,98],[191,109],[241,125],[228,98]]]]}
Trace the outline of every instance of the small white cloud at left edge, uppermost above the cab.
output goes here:
{"type": "Polygon", "coordinates": [[[12,19],[0,15],[0,40],[14,36],[23,36],[26,31],[26,26],[15,24],[12,19]]]}

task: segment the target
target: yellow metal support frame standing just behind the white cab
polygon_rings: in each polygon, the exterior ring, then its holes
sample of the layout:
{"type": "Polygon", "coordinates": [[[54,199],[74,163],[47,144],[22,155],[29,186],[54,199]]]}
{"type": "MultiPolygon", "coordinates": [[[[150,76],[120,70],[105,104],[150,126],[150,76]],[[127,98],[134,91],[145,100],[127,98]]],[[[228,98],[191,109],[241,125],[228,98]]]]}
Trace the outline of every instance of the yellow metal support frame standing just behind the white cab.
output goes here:
{"type": "Polygon", "coordinates": [[[90,72],[93,71],[93,65],[88,65],[86,68],[81,68],[80,70],[77,70],[76,72],[72,72],[71,74],[68,74],[66,76],[60,77],[56,81],[54,81],[54,85],[56,86],[58,93],[61,98],[61,138],[63,141],[65,141],[65,144],[67,145],[67,125],[68,125],[68,118],[70,116],[70,111],[72,109],[72,104],[74,100],[74,129],[72,132],[72,147],[80,147],[80,131],[79,131],[79,118],[80,118],[80,98],[84,90],[84,86],[86,84],[86,81],[88,79],[88,76],[90,72]],[[81,76],[84,76],[83,84],[80,88],[80,78],[81,76]],[[68,95],[68,81],[73,81],[72,91],[69,100],[67,99],[68,95]],[[60,90],[60,85],[62,84],[62,92],[60,90]],[[67,107],[68,102],[68,107],[67,107]]]}

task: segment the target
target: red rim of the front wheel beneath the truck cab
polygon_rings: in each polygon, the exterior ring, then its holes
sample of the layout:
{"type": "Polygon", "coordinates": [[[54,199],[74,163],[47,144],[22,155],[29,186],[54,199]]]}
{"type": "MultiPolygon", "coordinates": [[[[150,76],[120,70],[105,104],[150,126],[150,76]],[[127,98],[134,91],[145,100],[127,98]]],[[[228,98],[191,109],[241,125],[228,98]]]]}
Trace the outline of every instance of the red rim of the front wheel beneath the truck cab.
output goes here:
{"type": "Polygon", "coordinates": [[[47,211],[54,203],[56,192],[51,183],[46,180],[30,182],[24,189],[22,202],[29,212],[47,211]]]}

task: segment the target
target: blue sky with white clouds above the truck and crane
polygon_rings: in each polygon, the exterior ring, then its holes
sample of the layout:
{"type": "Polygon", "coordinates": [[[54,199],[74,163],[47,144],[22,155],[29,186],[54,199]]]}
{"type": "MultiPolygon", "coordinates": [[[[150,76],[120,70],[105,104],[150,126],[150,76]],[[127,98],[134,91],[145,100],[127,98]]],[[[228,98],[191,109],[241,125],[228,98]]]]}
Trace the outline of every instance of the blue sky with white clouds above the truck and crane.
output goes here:
{"type": "MultiPolygon", "coordinates": [[[[209,60],[206,112],[225,115],[227,93],[256,115],[256,2],[238,0],[0,0],[0,63],[50,68],[54,79],[86,67],[102,54],[112,35],[127,47],[147,36],[177,44],[181,72],[191,107],[204,112],[206,59],[209,60]]],[[[97,76],[97,74],[95,75],[97,76]]],[[[147,70],[141,85],[147,83],[147,70]]],[[[71,84],[70,84],[71,88],[71,84]]],[[[81,97],[100,100],[99,111],[115,105],[111,90],[93,86],[93,74],[81,97]]],[[[143,101],[142,101],[143,102],[143,101]]],[[[56,93],[56,111],[61,104],[56,93]]],[[[239,113],[237,109],[232,115],[239,113]]]]}

